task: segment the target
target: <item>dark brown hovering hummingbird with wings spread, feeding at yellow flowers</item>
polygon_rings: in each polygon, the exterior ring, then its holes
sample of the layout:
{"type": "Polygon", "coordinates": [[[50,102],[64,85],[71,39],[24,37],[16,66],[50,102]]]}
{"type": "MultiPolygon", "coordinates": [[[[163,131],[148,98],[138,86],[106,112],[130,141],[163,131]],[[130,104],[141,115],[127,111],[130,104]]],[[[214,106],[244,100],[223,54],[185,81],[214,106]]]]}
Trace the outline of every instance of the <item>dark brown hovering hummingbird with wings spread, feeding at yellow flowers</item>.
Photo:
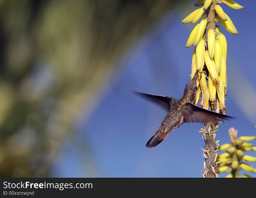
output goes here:
{"type": "Polygon", "coordinates": [[[135,92],[136,94],[148,99],[156,104],[162,106],[168,111],[167,115],[164,117],[163,122],[157,129],[157,132],[148,140],[146,147],[152,148],[160,144],[164,138],[171,131],[179,128],[184,122],[200,122],[200,123],[210,123],[218,122],[219,120],[230,120],[234,117],[229,115],[223,115],[213,111],[209,111],[193,105],[196,94],[196,78],[198,70],[195,75],[186,84],[183,96],[176,100],[168,96],[152,95],[142,92],[135,92]]]}

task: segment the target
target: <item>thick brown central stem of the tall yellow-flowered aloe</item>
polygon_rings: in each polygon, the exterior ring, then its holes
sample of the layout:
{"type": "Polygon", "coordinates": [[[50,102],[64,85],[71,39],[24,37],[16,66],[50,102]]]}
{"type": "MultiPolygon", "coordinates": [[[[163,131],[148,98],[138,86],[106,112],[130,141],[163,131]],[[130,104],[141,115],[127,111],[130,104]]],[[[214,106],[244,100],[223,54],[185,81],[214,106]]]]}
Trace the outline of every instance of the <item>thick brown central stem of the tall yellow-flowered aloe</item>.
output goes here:
{"type": "MultiPolygon", "coordinates": [[[[215,10],[214,6],[216,5],[216,0],[213,0],[209,7],[209,11],[207,12],[207,18],[209,19],[209,22],[207,23],[206,26],[206,39],[207,39],[207,34],[210,28],[215,30],[215,10]]],[[[207,47],[207,45],[206,45],[207,47]]],[[[208,74],[209,75],[209,74],[208,74]]],[[[209,110],[212,110],[210,105],[209,105],[209,110]]],[[[205,133],[204,139],[205,139],[205,148],[209,152],[207,152],[207,158],[205,159],[205,167],[206,170],[209,170],[206,174],[206,177],[216,177],[215,172],[213,172],[212,167],[214,168],[215,171],[215,156],[214,156],[214,148],[215,148],[215,134],[213,134],[213,130],[216,128],[216,123],[211,123],[211,124],[206,124],[205,123],[205,129],[208,131],[208,133],[205,133]]]]}

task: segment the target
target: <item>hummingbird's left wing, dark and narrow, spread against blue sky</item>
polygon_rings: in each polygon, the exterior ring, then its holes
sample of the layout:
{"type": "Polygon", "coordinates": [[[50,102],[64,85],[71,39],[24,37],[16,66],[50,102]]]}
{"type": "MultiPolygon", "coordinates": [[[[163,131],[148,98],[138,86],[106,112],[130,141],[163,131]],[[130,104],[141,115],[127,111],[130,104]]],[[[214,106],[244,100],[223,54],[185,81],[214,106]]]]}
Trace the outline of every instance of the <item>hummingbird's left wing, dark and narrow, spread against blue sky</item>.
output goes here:
{"type": "Polygon", "coordinates": [[[153,95],[153,94],[147,94],[142,92],[136,92],[133,91],[135,94],[154,102],[155,104],[161,106],[164,110],[169,111],[170,110],[170,101],[173,99],[168,96],[160,96],[160,95],[153,95]]]}

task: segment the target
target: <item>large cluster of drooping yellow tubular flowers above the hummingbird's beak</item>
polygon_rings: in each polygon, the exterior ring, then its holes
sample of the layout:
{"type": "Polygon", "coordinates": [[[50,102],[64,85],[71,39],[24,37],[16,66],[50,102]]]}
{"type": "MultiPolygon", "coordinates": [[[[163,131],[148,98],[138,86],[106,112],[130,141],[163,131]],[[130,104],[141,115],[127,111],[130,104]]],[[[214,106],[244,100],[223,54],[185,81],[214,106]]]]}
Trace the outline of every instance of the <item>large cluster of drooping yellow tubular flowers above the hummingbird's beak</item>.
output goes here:
{"type": "MultiPolygon", "coordinates": [[[[221,28],[216,25],[219,22],[232,34],[238,34],[230,17],[223,11],[220,3],[234,9],[242,9],[243,6],[232,0],[200,0],[195,6],[202,6],[189,14],[182,23],[196,23],[202,15],[207,15],[195,26],[189,35],[186,47],[195,46],[192,56],[191,78],[196,70],[199,70],[197,77],[197,94],[194,101],[196,105],[202,94],[200,106],[209,108],[209,101],[212,110],[220,113],[227,110],[225,106],[225,95],[227,89],[226,60],[227,41],[221,28]],[[214,11],[214,19],[209,20],[209,12],[214,11]],[[214,23],[213,28],[207,28],[207,23],[214,23]],[[200,86],[199,86],[200,85],[200,86]]],[[[224,112],[225,113],[225,112],[224,112]]]]}

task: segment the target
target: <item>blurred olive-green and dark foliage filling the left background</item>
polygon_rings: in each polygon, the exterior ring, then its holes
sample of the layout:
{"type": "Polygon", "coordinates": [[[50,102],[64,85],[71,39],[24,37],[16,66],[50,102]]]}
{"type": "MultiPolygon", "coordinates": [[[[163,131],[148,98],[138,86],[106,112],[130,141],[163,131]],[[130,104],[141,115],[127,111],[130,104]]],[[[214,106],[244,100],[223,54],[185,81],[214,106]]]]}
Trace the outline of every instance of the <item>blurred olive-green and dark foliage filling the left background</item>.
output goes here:
{"type": "MultiPolygon", "coordinates": [[[[103,97],[122,53],[177,3],[1,0],[0,176],[52,176],[75,119],[103,97]]],[[[92,150],[82,150],[90,176],[92,150]]]]}

